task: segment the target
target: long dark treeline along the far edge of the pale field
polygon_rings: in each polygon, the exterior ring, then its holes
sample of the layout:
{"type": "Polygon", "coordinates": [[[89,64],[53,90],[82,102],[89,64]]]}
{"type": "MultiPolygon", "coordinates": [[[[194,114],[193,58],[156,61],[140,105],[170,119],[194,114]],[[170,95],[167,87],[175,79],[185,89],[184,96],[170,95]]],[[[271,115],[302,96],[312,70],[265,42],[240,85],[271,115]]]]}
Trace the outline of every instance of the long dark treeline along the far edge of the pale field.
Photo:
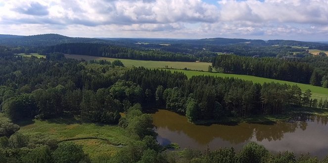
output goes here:
{"type": "Polygon", "coordinates": [[[162,61],[196,61],[197,58],[188,54],[164,52],[159,50],[135,50],[131,48],[108,46],[103,44],[71,43],[59,44],[45,48],[43,53],[65,53],[105,56],[121,59],[162,60],[162,61]]]}

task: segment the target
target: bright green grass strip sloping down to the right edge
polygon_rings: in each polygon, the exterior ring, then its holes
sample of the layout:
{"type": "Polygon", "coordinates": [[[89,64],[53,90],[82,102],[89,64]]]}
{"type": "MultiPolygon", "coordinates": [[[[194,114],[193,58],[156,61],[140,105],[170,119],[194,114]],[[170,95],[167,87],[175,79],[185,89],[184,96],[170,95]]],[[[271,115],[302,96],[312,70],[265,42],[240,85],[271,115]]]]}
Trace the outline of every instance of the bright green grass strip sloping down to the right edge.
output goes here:
{"type": "Polygon", "coordinates": [[[178,71],[183,72],[187,75],[187,77],[196,76],[196,75],[211,75],[211,76],[219,76],[219,77],[234,77],[239,78],[243,80],[250,80],[254,83],[261,83],[264,82],[270,83],[270,82],[276,82],[276,83],[286,83],[289,85],[297,85],[299,86],[302,91],[305,91],[307,89],[310,89],[312,91],[312,98],[320,100],[321,98],[328,99],[328,88],[318,87],[318,86],[312,86],[309,84],[300,84],[300,83],[294,83],[294,82],[288,82],[288,81],[282,81],[282,80],[275,80],[275,79],[268,79],[268,78],[262,78],[262,77],[256,77],[256,76],[249,76],[249,75],[236,75],[236,74],[224,74],[224,73],[210,73],[210,72],[201,72],[201,71],[187,71],[187,70],[172,70],[171,71],[178,71]]]}

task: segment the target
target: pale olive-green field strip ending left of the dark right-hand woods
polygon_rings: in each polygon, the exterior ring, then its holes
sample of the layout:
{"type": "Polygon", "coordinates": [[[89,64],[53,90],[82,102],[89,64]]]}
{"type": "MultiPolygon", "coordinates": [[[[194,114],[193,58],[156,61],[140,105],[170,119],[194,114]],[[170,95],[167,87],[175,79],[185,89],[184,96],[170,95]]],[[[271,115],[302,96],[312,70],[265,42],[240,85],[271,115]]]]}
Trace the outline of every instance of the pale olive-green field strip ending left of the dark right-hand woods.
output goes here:
{"type": "MultiPolygon", "coordinates": [[[[108,58],[108,57],[99,57],[99,56],[90,56],[90,55],[75,55],[75,54],[65,54],[67,58],[73,59],[85,59],[85,60],[109,60],[113,61],[117,58],[108,58]]],[[[152,60],[132,60],[132,59],[119,59],[126,67],[147,67],[147,68],[175,68],[175,69],[183,69],[185,67],[192,70],[203,70],[207,71],[208,66],[212,65],[207,62],[176,62],[176,61],[152,61],[152,60]]]]}

